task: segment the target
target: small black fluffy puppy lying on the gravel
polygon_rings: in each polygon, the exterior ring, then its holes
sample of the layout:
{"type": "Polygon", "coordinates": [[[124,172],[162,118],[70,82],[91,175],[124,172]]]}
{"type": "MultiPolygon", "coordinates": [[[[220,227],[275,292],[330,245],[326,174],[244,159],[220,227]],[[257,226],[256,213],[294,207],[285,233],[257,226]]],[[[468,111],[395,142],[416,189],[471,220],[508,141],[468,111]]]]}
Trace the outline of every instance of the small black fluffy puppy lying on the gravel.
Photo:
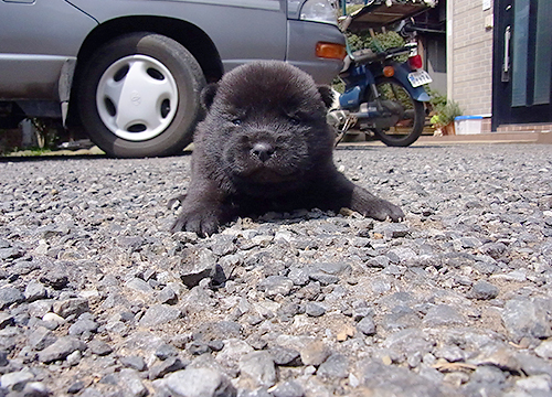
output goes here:
{"type": "Polygon", "coordinates": [[[192,181],[173,232],[210,235],[236,216],[297,208],[339,211],[396,222],[396,205],[354,185],[332,161],[332,100],[305,72],[284,62],[256,62],[202,93],[192,181]]]}

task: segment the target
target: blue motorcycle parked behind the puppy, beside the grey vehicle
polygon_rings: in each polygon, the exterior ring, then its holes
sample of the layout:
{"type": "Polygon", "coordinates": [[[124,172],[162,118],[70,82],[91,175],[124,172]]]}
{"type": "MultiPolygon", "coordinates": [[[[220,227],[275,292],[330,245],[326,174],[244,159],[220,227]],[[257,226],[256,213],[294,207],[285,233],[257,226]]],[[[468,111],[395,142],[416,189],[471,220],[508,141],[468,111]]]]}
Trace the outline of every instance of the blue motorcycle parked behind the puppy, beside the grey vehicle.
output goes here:
{"type": "Polygon", "coordinates": [[[424,129],[424,103],[429,100],[424,85],[432,82],[422,66],[415,42],[379,52],[348,49],[339,75],[344,93],[339,96],[339,106],[328,114],[328,121],[337,129],[336,144],[354,126],[372,131],[391,147],[414,143],[424,129]],[[407,55],[407,61],[397,62],[401,55],[407,55]]]}

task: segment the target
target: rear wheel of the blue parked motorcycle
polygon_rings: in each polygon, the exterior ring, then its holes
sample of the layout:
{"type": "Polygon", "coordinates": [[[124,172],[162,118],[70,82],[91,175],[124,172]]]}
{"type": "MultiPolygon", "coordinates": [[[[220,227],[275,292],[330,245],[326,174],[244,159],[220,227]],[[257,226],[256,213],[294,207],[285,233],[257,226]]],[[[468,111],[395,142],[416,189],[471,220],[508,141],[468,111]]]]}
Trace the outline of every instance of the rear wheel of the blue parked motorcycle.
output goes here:
{"type": "MultiPolygon", "coordinates": [[[[406,88],[394,78],[380,77],[375,81],[378,92],[383,100],[401,103],[405,109],[403,117],[390,128],[373,128],[375,136],[386,146],[407,147],[414,143],[424,130],[424,104],[415,100],[406,88]]],[[[370,95],[372,94],[369,92],[370,95]]],[[[369,101],[374,98],[368,98],[369,101]]]]}

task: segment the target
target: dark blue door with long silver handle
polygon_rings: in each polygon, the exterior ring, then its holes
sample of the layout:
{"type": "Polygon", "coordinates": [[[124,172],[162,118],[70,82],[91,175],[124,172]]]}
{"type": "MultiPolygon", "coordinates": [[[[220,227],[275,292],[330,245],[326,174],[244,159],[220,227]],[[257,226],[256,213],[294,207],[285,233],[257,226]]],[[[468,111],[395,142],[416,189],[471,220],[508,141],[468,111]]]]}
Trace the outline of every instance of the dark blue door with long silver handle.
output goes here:
{"type": "Polygon", "coordinates": [[[552,122],[552,0],[495,0],[492,129],[552,122]]]}

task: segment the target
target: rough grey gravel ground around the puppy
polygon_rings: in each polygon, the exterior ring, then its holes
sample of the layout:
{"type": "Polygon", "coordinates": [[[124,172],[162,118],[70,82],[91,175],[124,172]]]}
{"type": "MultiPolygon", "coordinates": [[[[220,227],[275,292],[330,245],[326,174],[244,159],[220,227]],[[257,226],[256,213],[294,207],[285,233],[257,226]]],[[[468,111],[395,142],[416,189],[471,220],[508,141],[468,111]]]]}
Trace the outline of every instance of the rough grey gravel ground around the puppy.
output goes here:
{"type": "Polygon", "coordinates": [[[0,162],[0,396],[550,396],[552,146],[338,150],[403,223],[168,228],[190,155],[0,162]]]}

